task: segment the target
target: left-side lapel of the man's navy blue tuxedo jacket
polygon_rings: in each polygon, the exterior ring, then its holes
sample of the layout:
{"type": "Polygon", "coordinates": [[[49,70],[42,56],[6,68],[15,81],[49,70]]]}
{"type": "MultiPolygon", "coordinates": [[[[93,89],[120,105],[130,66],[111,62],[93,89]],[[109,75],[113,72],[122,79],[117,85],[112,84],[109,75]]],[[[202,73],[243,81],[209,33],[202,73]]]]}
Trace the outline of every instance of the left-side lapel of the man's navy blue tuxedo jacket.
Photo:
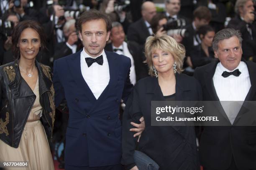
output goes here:
{"type": "Polygon", "coordinates": [[[87,83],[84,80],[84,77],[82,76],[81,72],[81,63],[80,63],[80,54],[82,50],[75,53],[73,57],[68,58],[67,64],[69,66],[69,71],[72,74],[72,77],[74,78],[76,84],[81,88],[84,89],[84,95],[88,97],[90,101],[96,101],[96,98],[94,97],[92,91],[90,90],[90,87],[87,85],[87,83]]]}

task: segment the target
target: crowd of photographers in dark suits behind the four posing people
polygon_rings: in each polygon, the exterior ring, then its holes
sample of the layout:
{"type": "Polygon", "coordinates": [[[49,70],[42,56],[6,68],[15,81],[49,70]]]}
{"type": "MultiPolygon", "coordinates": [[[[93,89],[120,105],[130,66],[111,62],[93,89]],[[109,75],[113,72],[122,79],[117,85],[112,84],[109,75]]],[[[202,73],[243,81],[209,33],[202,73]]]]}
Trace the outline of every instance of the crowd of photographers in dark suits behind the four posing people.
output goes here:
{"type": "Polygon", "coordinates": [[[141,62],[144,60],[143,46],[149,35],[168,34],[182,43],[186,47],[185,73],[189,75],[193,74],[195,67],[216,60],[211,49],[212,37],[215,32],[225,27],[241,31],[243,57],[246,60],[256,60],[256,18],[253,0],[162,0],[164,10],[157,8],[154,0],[0,2],[0,65],[13,61],[10,35],[15,25],[22,20],[37,20],[45,28],[47,50],[38,55],[40,62],[52,67],[55,59],[77,52],[82,48],[82,44],[75,26],[76,20],[83,11],[92,8],[107,13],[113,22],[122,26],[123,37],[120,38],[120,32],[119,35],[111,34],[112,37],[117,37],[116,39],[119,36],[120,41],[110,41],[113,47],[113,43],[122,45],[125,37],[128,44],[136,47],[132,47],[130,54],[126,54],[135,55],[132,57],[136,80],[148,76],[147,66],[141,62]],[[210,31],[205,30],[205,34],[199,34],[199,28],[204,25],[210,25],[211,28],[207,28],[210,31]]]}

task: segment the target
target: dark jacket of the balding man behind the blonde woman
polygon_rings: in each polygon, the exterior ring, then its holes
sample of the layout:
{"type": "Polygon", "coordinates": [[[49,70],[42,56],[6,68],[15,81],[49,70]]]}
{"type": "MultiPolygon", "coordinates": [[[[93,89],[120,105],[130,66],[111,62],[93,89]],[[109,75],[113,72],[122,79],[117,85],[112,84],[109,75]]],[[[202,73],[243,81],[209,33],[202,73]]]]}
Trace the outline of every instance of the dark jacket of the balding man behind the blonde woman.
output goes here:
{"type": "Polygon", "coordinates": [[[150,33],[143,18],[132,23],[128,28],[127,39],[137,42],[141,47],[145,44],[148,36],[150,33]]]}

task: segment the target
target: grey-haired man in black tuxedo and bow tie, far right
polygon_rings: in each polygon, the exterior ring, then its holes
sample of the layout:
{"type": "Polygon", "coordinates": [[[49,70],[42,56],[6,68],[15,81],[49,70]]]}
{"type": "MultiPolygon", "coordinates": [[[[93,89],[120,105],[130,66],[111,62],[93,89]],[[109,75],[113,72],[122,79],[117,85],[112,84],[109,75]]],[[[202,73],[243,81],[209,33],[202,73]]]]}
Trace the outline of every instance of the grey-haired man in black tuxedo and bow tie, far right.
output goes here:
{"type": "MultiPolygon", "coordinates": [[[[197,67],[194,74],[202,85],[203,100],[256,100],[256,63],[241,60],[241,44],[238,30],[223,29],[215,34],[212,46],[220,62],[197,67]]],[[[225,109],[225,106],[221,107],[225,109]]],[[[228,117],[227,112],[223,116],[230,126],[203,127],[200,163],[204,170],[254,170],[256,127],[236,126],[240,112],[233,119],[228,117]]]]}

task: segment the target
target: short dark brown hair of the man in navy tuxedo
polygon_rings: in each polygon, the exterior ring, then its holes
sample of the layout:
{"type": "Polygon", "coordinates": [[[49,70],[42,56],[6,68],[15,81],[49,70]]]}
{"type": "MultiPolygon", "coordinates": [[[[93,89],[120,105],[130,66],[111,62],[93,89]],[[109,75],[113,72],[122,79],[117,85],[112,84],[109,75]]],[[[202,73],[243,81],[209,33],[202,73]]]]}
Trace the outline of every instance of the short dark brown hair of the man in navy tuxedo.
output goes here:
{"type": "Polygon", "coordinates": [[[89,10],[81,14],[80,18],[77,20],[77,30],[82,31],[82,24],[92,21],[92,20],[104,20],[107,27],[107,32],[111,30],[111,20],[108,18],[108,15],[98,11],[98,10],[89,10]]]}

